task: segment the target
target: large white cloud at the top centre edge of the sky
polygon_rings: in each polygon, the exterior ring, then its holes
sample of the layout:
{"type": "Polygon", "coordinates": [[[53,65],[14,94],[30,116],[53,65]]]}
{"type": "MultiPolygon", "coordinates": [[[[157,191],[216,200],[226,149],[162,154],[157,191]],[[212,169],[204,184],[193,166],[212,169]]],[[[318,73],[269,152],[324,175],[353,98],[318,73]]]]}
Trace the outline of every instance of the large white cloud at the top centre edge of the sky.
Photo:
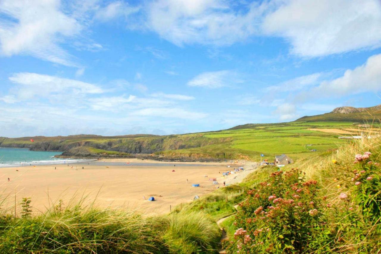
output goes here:
{"type": "Polygon", "coordinates": [[[224,0],[158,0],[147,6],[147,26],[176,44],[231,45],[259,31],[268,3],[237,11],[224,0]]]}

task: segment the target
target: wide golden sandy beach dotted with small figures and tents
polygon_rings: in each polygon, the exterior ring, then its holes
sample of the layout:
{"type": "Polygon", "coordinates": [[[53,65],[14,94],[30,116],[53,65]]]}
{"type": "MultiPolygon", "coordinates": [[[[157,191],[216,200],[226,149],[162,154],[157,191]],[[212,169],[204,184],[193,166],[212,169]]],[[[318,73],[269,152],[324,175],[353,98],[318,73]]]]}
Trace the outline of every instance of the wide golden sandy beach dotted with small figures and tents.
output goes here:
{"type": "Polygon", "coordinates": [[[170,205],[173,207],[179,203],[190,202],[195,195],[202,196],[218,186],[221,187],[224,180],[234,183],[249,173],[240,172],[223,178],[222,172],[242,166],[242,163],[230,162],[169,162],[171,166],[165,165],[168,162],[138,159],[106,159],[101,162],[109,166],[93,165],[96,164],[93,162],[90,165],[3,168],[0,173],[0,191],[2,198],[8,198],[2,207],[14,206],[15,193],[17,203],[24,197],[31,198],[31,206],[36,213],[45,211],[46,207],[57,203],[59,199],[66,206],[70,200],[78,201],[84,195],[87,196],[85,204],[96,198],[95,204],[100,207],[129,208],[144,214],[163,214],[170,211],[170,205]],[[125,165],[112,165],[120,162],[125,165]],[[134,163],[138,162],[152,166],[135,166],[134,163]],[[158,166],[160,163],[163,166],[158,166]],[[231,167],[227,168],[227,165],[231,167]],[[213,185],[209,178],[217,178],[219,185],[213,185]],[[198,183],[200,187],[192,187],[192,183],[198,183]],[[150,196],[154,196],[156,201],[147,201],[150,196]]]}

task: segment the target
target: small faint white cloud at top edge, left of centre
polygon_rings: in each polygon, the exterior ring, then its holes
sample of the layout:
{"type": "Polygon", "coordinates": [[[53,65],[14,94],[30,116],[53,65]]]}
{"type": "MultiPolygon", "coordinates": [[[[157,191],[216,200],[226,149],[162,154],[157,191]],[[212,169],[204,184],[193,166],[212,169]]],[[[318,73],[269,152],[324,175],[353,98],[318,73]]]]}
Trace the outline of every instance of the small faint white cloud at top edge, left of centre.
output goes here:
{"type": "Polygon", "coordinates": [[[138,7],[129,6],[128,3],[123,1],[116,1],[109,3],[105,7],[99,7],[96,11],[94,18],[99,21],[110,21],[111,19],[118,18],[120,16],[128,16],[132,13],[139,11],[138,7]]]}

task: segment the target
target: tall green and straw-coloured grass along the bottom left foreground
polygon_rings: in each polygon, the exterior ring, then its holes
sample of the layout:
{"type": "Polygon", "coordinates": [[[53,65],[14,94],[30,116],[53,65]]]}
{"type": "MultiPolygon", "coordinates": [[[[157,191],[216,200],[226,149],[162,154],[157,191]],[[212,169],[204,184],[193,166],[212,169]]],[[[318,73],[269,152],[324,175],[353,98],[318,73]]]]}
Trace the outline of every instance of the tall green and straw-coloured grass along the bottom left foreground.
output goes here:
{"type": "Polygon", "coordinates": [[[0,217],[0,253],[214,253],[217,225],[202,212],[143,217],[77,204],[0,217]]]}

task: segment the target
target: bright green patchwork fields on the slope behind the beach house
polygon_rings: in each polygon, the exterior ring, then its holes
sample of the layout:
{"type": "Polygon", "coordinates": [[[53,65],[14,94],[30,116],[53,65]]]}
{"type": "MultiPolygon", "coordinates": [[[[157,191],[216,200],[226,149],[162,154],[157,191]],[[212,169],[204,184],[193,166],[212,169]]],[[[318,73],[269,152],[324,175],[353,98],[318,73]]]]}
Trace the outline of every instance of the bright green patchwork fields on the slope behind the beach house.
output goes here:
{"type": "MultiPolygon", "coordinates": [[[[230,138],[219,145],[199,148],[161,151],[166,156],[200,156],[220,159],[273,160],[277,154],[288,154],[293,158],[307,157],[312,153],[321,153],[337,148],[350,141],[339,139],[351,134],[325,133],[309,129],[358,129],[351,122],[290,122],[282,124],[255,124],[244,129],[229,129],[203,133],[206,138],[230,138]],[[249,127],[249,128],[247,128],[249,127]],[[316,150],[312,152],[311,150],[316,150]]],[[[379,128],[379,127],[376,127],[379,128]]],[[[364,129],[365,130],[365,129],[364,129]]],[[[359,135],[353,132],[353,135],[359,135]]]]}

